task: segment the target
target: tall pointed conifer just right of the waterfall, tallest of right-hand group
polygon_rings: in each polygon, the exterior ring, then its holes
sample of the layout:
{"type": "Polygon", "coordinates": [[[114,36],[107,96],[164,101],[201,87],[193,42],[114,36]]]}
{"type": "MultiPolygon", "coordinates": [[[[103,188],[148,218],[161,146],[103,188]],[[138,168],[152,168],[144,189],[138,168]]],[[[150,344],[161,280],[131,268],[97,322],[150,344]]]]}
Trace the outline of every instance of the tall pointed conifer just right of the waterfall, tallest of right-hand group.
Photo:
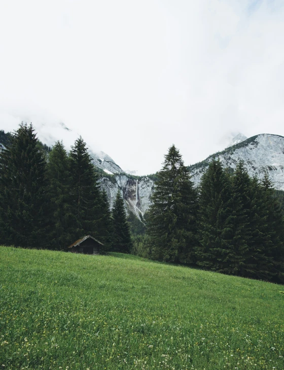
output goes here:
{"type": "Polygon", "coordinates": [[[168,262],[193,262],[196,244],[197,193],[188,169],[174,145],[165,155],[152,196],[147,233],[152,258],[168,262]]]}

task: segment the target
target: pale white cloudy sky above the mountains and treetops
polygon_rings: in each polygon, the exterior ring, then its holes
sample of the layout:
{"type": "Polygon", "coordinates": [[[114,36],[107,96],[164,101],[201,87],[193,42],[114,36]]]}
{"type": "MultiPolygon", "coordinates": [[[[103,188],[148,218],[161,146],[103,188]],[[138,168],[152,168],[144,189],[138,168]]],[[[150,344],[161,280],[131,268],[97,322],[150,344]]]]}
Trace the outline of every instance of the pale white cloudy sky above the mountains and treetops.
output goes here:
{"type": "Polygon", "coordinates": [[[284,136],[284,0],[0,0],[0,129],[22,120],[141,174],[284,136]]]}

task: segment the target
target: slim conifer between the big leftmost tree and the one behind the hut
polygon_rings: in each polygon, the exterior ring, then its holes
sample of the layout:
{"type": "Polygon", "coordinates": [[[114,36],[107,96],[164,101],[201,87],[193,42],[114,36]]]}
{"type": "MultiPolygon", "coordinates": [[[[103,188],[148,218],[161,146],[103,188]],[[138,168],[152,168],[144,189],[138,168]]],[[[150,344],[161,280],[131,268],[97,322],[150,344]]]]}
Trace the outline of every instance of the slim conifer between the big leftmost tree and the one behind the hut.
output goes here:
{"type": "Polygon", "coordinates": [[[49,209],[51,213],[50,247],[64,249],[76,237],[73,232],[70,160],[64,145],[57,141],[49,154],[47,165],[49,179],[49,209]]]}

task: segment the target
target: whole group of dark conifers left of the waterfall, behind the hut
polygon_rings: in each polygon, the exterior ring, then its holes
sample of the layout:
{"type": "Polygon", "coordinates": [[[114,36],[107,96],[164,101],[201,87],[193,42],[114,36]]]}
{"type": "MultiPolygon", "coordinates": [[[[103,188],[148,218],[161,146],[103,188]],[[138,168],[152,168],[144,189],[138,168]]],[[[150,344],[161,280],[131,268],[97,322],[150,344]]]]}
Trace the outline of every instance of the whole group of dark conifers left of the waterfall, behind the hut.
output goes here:
{"type": "Polygon", "coordinates": [[[122,195],[117,193],[111,212],[82,137],[69,153],[57,141],[46,156],[32,125],[21,123],[5,145],[0,153],[0,245],[62,250],[91,235],[104,244],[104,252],[130,251],[122,195]]]}

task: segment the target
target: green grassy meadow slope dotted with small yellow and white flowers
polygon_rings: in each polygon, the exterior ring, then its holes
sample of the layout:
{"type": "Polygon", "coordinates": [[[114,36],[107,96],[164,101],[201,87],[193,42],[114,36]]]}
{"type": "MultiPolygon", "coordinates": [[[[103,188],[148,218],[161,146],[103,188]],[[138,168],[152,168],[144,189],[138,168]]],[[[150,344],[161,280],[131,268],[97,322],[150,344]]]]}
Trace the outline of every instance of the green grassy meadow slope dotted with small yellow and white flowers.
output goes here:
{"type": "Polygon", "coordinates": [[[0,368],[284,368],[281,285],[0,247],[0,368]]]}

